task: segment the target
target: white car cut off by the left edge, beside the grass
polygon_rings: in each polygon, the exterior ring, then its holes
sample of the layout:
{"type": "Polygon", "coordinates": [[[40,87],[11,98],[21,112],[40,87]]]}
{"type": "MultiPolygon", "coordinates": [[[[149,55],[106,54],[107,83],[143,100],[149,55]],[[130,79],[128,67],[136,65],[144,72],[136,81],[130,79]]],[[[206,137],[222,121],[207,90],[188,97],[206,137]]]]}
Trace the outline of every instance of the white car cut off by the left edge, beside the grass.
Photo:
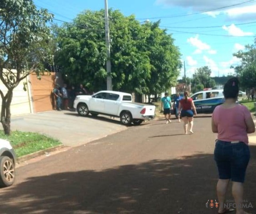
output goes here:
{"type": "Polygon", "coordinates": [[[0,187],[11,186],[15,181],[16,154],[9,141],[0,139],[0,187]]]}

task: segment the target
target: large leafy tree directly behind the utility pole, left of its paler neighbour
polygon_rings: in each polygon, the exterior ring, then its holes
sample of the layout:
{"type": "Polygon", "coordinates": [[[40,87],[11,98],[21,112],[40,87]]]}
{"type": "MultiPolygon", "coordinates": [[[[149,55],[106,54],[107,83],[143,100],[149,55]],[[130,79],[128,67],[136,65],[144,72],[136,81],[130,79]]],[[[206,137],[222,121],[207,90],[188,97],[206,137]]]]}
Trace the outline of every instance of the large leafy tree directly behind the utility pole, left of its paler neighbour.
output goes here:
{"type": "MultiPolygon", "coordinates": [[[[143,31],[134,16],[109,11],[112,84],[114,90],[147,92],[150,59],[140,51],[143,31]]],[[[104,10],[87,10],[73,24],[56,30],[60,50],[57,63],[72,84],[83,83],[89,90],[106,89],[106,44],[104,10]]]]}

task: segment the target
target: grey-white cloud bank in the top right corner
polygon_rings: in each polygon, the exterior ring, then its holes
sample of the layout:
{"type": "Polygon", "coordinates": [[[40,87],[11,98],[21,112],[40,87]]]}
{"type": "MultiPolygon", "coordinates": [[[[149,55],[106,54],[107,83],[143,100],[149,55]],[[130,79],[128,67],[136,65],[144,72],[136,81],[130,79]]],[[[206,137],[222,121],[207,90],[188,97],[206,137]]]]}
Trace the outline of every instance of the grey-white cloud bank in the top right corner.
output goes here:
{"type": "Polygon", "coordinates": [[[216,8],[223,8],[220,10],[205,12],[204,14],[207,14],[214,18],[220,14],[224,14],[228,18],[228,20],[255,19],[256,14],[256,2],[240,4],[242,3],[241,0],[156,0],[156,3],[163,4],[165,6],[178,6],[182,8],[188,8],[194,12],[210,11],[216,8]],[[224,8],[226,6],[235,4],[239,5],[230,8],[224,8]]]}

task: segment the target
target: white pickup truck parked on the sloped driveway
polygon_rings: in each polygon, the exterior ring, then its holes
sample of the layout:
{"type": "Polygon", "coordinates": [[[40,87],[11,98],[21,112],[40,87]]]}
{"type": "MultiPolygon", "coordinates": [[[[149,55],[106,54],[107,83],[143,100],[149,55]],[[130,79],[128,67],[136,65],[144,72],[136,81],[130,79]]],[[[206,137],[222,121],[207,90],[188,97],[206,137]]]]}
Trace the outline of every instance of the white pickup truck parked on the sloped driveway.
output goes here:
{"type": "Polygon", "coordinates": [[[92,96],[76,96],[74,108],[80,116],[104,114],[120,117],[124,125],[139,125],[154,118],[156,106],[132,102],[132,95],[128,93],[106,90],[92,96]]]}

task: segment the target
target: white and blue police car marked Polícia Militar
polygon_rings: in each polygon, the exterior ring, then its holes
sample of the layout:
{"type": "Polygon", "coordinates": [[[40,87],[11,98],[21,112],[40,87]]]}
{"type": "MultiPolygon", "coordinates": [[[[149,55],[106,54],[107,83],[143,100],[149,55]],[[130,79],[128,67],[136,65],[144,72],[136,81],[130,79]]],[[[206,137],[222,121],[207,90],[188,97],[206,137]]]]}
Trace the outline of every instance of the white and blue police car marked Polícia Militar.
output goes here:
{"type": "Polygon", "coordinates": [[[224,103],[225,98],[222,90],[204,90],[190,96],[196,106],[198,114],[211,114],[214,108],[224,103]]]}

